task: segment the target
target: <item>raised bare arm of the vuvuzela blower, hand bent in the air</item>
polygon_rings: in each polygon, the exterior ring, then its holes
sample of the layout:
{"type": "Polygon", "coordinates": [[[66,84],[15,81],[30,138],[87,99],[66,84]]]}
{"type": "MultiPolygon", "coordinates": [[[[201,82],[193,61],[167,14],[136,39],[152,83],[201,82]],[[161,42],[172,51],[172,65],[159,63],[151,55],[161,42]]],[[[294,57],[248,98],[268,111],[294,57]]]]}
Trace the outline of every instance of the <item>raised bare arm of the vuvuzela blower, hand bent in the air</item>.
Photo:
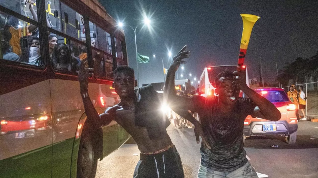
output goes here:
{"type": "Polygon", "coordinates": [[[190,51],[186,51],[187,45],[185,45],[177,54],[173,57],[173,61],[168,69],[167,79],[165,82],[165,102],[169,106],[184,110],[193,110],[192,100],[183,96],[176,95],[175,89],[175,73],[180,64],[186,63],[182,59],[189,57],[190,51]]]}

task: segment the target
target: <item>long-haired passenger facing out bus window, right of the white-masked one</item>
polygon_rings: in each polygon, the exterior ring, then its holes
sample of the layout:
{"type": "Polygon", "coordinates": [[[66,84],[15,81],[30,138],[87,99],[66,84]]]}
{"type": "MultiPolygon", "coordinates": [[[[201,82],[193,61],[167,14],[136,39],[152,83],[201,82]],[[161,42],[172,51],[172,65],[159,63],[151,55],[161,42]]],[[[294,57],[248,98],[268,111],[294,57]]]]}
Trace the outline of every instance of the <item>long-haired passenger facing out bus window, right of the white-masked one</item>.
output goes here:
{"type": "Polygon", "coordinates": [[[70,54],[65,43],[58,43],[53,49],[52,65],[54,69],[76,71],[78,61],[70,54]]]}

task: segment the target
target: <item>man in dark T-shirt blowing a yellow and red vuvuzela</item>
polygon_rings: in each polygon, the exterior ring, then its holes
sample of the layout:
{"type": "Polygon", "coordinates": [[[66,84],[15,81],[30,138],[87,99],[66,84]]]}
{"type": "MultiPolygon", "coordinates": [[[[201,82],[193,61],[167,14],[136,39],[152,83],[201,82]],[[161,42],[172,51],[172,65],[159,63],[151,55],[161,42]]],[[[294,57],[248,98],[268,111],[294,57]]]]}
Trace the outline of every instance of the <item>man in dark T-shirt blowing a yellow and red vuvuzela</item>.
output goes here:
{"type": "Polygon", "coordinates": [[[184,58],[190,51],[184,46],[173,58],[169,67],[167,80],[168,104],[180,109],[197,112],[200,116],[202,129],[211,148],[201,144],[201,163],[198,177],[257,177],[256,171],[246,159],[243,148],[243,128],[247,115],[270,121],[278,121],[280,111],[266,98],[257,94],[246,85],[245,70],[231,72],[225,70],[215,78],[216,97],[176,96],[175,73],[180,64],[186,63],[184,58]],[[234,76],[238,76],[234,80],[234,76]],[[239,87],[246,96],[230,98],[234,88],[239,87]]]}

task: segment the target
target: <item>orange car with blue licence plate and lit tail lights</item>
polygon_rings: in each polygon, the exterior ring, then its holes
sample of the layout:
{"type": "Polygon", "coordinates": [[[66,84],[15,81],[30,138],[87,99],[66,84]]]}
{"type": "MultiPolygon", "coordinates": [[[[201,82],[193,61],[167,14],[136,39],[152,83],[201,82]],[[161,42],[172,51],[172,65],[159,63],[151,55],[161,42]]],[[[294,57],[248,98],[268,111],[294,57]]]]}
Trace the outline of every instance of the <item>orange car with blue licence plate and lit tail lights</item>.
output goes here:
{"type": "Polygon", "coordinates": [[[274,122],[248,115],[244,121],[244,139],[258,135],[284,135],[288,144],[296,143],[298,128],[296,106],[289,100],[285,91],[280,88],[256,88],[253,90],[272,102],[280,111],[281,118],[274,122]]]}

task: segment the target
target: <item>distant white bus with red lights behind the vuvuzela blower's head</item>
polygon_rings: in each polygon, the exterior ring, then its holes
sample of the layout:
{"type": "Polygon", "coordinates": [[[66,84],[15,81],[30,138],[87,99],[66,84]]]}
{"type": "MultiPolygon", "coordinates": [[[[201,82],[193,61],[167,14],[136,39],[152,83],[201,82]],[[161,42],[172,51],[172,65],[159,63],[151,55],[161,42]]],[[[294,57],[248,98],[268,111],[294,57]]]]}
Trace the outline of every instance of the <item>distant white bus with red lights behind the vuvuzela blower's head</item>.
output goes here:
{"type": "MultiPolygon", "coordinates": [[[[249,83],[249,78],[248,78],[248,72],[247,68],[245,67],[246,70],[246,84],[247,86],[250,86],[249,83]]],[[[215,90],[215,84],[214,84],[214,79],[215,77],[222,71],[224,70],[230,70],[232,72],[236,71],[236,65],[220,65],[220,66],[211,66],[211,67],[206,67],[203,70],[203,73],[200,76],[199,80],[199,94],[204,97],[209,97],[209,96],[216,96],[214,90],[215,90]]],[[[240,95],[242,95],[240,93],[240,95]]]]}

